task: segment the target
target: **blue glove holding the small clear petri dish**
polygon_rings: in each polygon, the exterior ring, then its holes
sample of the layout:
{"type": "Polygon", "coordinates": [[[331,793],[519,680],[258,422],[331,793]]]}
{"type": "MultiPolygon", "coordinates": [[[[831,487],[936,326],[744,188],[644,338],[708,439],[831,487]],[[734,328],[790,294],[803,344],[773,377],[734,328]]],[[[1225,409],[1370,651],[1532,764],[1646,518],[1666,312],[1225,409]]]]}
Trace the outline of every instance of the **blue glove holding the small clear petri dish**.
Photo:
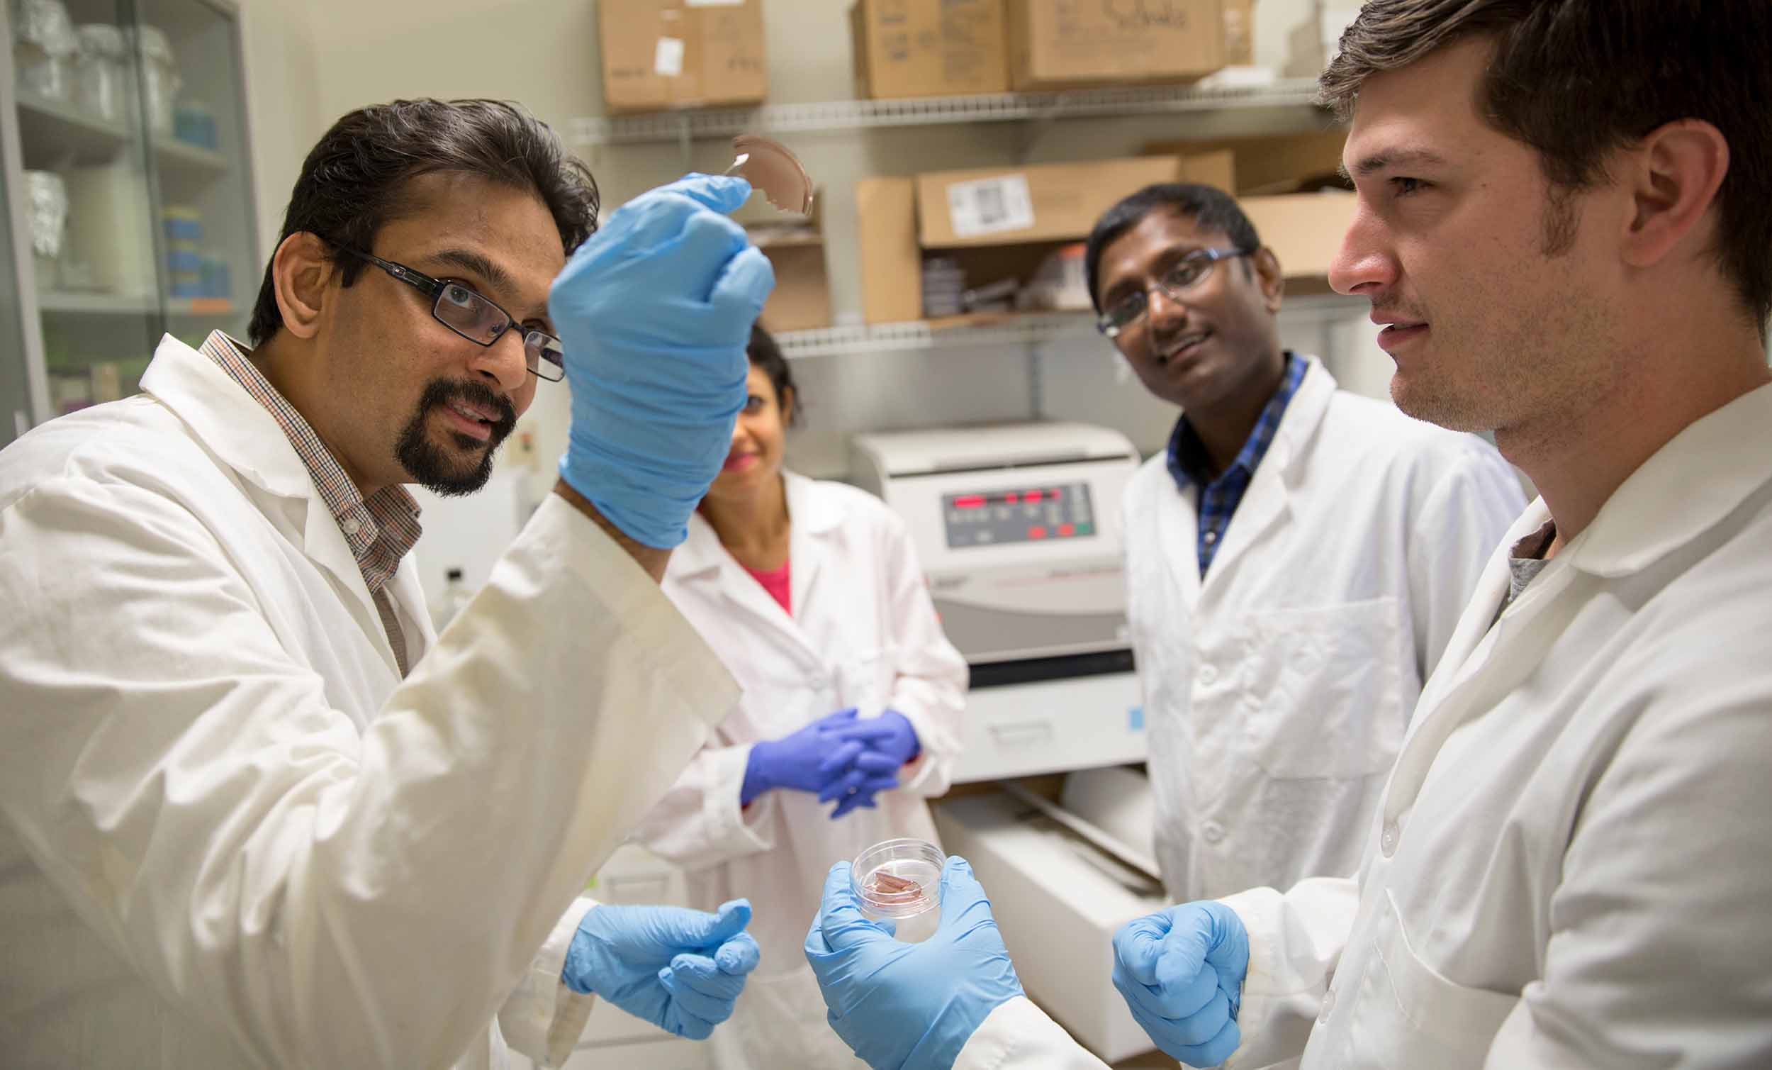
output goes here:
{"type": "Polygon", "coordinates": [[[952,1066],[985,1017],[1022,994],[991,900],[957,856],[941,866],[941,923],[920,944],[863,918],[849,863],[831,866],[806,962],[831,1029],[874,1070],[952,1066]]]}

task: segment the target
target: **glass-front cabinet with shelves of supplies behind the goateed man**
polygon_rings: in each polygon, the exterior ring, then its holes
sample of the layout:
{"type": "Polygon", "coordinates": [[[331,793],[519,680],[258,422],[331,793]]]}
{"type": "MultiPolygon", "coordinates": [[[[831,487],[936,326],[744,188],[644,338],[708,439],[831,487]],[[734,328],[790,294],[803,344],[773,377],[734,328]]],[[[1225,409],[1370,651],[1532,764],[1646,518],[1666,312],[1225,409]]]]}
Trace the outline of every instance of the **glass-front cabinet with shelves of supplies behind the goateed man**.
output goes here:
{"type": "Polygon", "coordinates": [[[0,445],[135,393],[163,333],[243,335],[260,268],[237,9],[4,4],[0,445]]]}

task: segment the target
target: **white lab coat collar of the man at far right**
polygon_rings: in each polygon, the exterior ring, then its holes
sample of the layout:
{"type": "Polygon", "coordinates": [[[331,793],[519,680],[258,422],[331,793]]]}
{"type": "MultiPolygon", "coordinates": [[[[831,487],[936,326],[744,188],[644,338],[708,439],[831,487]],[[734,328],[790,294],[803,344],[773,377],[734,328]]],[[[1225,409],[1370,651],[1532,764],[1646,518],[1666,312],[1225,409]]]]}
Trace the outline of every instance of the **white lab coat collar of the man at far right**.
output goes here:
{"type": "Polygon", "coordinates": [[[1648,569],[1763,487],[1767,457],[1772,384],[1699,418],[1630,473],[1570,542],[1570,563],[1602,578],[1648,569]]]}

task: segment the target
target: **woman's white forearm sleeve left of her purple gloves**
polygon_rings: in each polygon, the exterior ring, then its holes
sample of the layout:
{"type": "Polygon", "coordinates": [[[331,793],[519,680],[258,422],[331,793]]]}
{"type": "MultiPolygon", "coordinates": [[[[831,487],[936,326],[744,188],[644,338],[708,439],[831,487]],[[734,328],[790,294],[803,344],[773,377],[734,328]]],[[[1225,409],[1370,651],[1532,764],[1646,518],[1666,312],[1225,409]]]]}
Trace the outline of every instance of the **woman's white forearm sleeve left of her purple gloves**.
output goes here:
{"type": "Polygon", "coordinates": [[[633,838],[688,872],[774,850],[776,792],[739,804],[750,758],[751,744],[702,748],[633,838]]]}

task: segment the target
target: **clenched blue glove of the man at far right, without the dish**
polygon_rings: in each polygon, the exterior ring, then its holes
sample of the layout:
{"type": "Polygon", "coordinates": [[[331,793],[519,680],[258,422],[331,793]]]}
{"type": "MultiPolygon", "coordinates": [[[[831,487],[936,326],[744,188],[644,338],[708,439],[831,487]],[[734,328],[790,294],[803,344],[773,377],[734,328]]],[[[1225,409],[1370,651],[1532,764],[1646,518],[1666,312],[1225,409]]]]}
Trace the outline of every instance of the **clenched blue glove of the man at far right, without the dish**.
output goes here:
{"type": "Polygon", "coordinates": [[[1237,911],[1201,900],[1146,914],[1113,935],[1113,987],[1173,1059],[1217,1066],[1242,1043],[1237,1010],[1249,934],[1237,911]]]}

